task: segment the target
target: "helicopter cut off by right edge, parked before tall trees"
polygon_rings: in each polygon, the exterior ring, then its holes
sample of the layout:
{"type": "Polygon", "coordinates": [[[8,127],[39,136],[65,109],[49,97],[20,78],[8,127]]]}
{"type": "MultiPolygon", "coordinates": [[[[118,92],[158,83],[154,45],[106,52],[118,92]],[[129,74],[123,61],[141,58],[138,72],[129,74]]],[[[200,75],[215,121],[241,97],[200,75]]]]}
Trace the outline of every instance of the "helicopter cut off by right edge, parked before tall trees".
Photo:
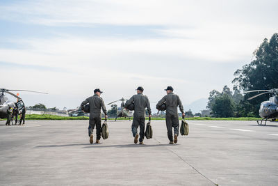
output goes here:
{"type": "Polygon", "coordinates": [[[265,125],[268,120],[275,121],[276,118],[278,118],[278,88],[273,88],[270,90],[246,91],[244,93],[252,93],[252,92],[258,92],[258,93],[263,92],[263,93],[254,95],[251,98],[248,98],[247,100],[252,100],[266,93],[271,93],[272,95],[268,101],[261,102],[259,115],[263,119],[256,121],[258,125],[262,125],[263,121],[265,121],[265,125]]]}

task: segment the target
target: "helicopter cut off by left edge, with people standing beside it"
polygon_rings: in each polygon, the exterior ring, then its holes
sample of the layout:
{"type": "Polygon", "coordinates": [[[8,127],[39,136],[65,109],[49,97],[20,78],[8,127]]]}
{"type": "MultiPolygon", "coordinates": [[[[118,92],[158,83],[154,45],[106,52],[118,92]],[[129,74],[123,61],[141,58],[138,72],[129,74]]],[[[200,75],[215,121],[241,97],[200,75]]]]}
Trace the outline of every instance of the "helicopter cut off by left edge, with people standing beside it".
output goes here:
{"type": "MultiPolygon", "coordinates": [[[[31,93],[42,93],[37,91],[26,91],[26,90],[9,90],[6,88],[0,88],[0,118],[7,118],[7,110],[8,107],[17,107],[19,113],[21,113],[24,102],[22,98],[20,98],[18,95],[15,95],[14,93],[11,93],[10,91],[24,91],[24,92],[31,92],[31,93]],[[11,100],[8,100],[5,93],[8,93],[10,95],[13,95],[13,97],[17,98],[17,102],[13,102],[11,100]]],[[[47,93],[44,93],[47,94],[47,93]]]]}

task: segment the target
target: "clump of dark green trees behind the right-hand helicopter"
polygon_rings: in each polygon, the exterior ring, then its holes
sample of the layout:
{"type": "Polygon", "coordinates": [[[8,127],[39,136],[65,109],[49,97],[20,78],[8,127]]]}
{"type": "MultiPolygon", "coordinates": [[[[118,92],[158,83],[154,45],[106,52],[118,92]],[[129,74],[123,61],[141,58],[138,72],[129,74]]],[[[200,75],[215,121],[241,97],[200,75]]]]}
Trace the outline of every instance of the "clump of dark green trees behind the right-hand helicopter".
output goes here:
{"type": "Polygon", "coordinates": [[[278,88],[278,33],[274,33],[270,40],[265,38],[253,55],[254,60],[234,72],[233,91],[224,86],[222,92],[213,90],[209,93],[206,107],[213,116],[259,117],[260,104],[270,95],[247,100],[256,93],[240,92],[278,88]]]}

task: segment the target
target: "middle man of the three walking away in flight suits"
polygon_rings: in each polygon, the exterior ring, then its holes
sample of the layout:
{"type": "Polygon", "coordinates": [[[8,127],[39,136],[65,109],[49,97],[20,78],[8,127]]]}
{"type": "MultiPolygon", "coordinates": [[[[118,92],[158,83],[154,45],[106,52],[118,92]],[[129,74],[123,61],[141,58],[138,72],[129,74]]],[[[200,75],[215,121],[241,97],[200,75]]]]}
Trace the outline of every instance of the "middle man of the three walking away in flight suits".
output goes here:
{"type": "Polygon", "coordinates": [[[131,126],[131,131],[134,137],[134,144],[138,143],[138,133],[137,129],[140,126],[140,145],[144,144],[144,133],[145,133],[145,108],[147,107],[147,111],[149,117],[151,117],[152,111],[151,107],[149,106],[149,98],[147,95],[143,95],[144,88],[139,86],[137,89],[137,94],[133,95],[129,100],[126,101],[125,108],[127,108],[130,104],[134,104],[134,115],[133,115],[133,122],[131,126]]]}

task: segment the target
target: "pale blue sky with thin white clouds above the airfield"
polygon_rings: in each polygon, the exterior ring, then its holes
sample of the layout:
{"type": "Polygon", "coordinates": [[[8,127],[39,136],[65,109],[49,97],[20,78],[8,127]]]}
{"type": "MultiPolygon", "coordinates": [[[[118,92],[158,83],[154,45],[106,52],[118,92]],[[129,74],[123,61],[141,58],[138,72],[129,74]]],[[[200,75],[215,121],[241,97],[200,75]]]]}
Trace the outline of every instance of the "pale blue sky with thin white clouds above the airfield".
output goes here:
{"type": "Polygon", "coordinates": [[[270,0],[2,0],[0,88],[49,93],[19,93],[27,106],[72,109],[95,88],[107,104],[138,86],[158,102],[173,86],[189,105],[232,88],[234,72],[278,31],[277,7],[270,0]]]}

